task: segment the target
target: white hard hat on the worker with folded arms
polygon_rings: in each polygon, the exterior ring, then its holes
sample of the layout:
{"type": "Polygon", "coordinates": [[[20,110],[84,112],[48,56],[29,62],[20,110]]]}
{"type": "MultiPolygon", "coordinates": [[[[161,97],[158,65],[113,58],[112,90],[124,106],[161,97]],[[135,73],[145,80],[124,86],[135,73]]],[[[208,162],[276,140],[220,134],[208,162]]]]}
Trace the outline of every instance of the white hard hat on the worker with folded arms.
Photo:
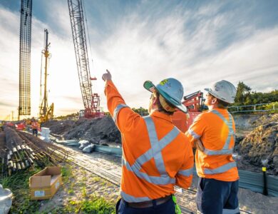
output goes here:
{"type": "Polygon", "coordinates": [[[211,88],[205,88],[205,91],[226,103],[234,103],[237,93],[235,86],[225,80],[214,83],[211,88]]]}

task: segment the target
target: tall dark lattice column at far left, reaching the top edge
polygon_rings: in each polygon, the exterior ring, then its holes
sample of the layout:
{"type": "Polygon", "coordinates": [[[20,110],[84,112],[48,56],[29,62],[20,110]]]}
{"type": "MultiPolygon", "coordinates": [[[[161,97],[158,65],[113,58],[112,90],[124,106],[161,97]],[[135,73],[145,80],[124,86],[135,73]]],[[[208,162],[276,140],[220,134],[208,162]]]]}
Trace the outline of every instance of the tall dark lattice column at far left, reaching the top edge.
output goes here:
{"type": "Polygon", "coordinates": [[[32,0],[21,0],[19,36],[19,117],[31,114],[31,18],[32,0]]]}

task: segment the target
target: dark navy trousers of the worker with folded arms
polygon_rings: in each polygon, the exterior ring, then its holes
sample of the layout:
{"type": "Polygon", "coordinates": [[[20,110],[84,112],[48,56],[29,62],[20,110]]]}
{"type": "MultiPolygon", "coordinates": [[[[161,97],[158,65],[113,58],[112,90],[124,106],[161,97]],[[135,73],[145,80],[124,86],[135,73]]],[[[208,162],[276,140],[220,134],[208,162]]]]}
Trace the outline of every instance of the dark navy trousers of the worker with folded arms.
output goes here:
{"type": "Polygon", "coordinates": [[[199,178],[197,209],[204,214],[240,213],[238,180],[227,182],[210,178],[199,178]]]}

